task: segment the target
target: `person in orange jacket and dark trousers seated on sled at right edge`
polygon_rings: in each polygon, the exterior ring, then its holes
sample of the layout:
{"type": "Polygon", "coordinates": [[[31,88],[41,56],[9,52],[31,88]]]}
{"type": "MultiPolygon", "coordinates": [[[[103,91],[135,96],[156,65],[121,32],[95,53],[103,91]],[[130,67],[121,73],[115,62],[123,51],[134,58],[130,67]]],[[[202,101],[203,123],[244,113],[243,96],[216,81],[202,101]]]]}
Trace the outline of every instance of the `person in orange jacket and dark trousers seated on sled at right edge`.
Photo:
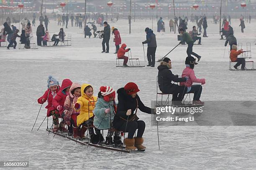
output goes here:
{"type": "Polygon", "coordinates": [[[243,53],[243,49],[237,51],[237,46],[232,45],[232,50],[230,51],[230,60],[232,62],[237,62],[236,65],[234,65],[234,68],[236,70],[239,65],[242,65],[241,70],[245,70],[245,59],[243,57],[242,58],[237,57],[241,53],[243,53]]]}

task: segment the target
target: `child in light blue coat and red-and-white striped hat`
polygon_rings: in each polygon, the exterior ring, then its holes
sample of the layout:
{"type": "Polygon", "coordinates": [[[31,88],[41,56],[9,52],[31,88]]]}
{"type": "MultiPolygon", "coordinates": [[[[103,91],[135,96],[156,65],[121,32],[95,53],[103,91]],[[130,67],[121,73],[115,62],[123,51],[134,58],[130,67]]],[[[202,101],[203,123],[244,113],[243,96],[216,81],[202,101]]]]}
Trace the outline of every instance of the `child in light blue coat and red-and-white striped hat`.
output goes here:
{"type": "MultiPolygon", "coordinates": [[[[93,124],[97,129],[113,128],[113,120],[116,112],[115,90],[109,86],[101,86],[98,93],[98,100],[93,110],[95,115],[93,124]]],[[[112,141],[113,131],[108,130],[105,145],[121,145],[120,131],[115,131],[114,141],[112,141]]]]}

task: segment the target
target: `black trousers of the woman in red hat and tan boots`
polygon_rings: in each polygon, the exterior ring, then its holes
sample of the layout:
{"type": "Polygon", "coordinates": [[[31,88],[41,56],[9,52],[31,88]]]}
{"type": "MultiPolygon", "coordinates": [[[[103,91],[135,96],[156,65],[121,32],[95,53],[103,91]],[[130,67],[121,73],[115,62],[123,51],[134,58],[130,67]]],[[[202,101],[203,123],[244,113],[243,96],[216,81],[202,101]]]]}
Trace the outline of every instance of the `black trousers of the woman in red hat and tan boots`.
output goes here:
{"type": "Polygon", "coordinates": [[[123,132],[128,132],[128,138],[132,139],[137,129],[138,129],[137,137],[141,138],[144,133],[145,127],[146,127],[146,124],[143,120],[136,120],[136,121],[127,122],[127,126],[125,122],[118,130],[121,130],[123,132]],[[125,127],[126,127],[126,131],[125,131],[125,127]]]}

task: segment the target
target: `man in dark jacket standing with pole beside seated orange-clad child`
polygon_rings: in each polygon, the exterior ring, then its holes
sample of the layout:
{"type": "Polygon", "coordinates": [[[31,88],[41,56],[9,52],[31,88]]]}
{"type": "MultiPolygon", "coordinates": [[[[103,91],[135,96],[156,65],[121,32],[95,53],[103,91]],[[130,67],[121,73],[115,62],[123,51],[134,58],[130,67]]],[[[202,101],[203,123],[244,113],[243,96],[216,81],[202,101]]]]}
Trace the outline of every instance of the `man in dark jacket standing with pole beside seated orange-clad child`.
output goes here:
{"type": "Polygon", "coordinates": [[[155,67],[155,61],[156,61],[156,35],[153,33],[153,31],[149,28],[145,29],[146,32],[146,41],[143,41],[142,44],[148,44],[147,49],[147,57],[148,57],[148,65],[151,67],[155,67]]]}

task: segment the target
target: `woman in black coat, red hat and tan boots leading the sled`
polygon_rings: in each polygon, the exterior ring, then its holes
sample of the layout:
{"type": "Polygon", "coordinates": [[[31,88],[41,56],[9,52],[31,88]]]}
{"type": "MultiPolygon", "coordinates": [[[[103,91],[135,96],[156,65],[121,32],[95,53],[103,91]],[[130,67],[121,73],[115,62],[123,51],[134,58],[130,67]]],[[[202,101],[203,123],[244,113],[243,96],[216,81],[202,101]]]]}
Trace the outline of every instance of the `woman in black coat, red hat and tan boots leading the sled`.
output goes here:
{"type": "Polygon", "coordinates": [[[142,135],[145,130],[145,122],[138,120],[137,109],[148,114],[154,114],[154,109],[146,107],[137,92],[140,90],[134,82],[128,82],[125,87],[118,89],[118,107],[114,117],[113,125],[115,129],[128,132],[128,138],[124,139],[125,149],[145,149],[142,145],[142,135]],[[127,121],[128,120],[128,121],[127,121]],[[138,129],[137,136],[133,138],[138,129]]]}

